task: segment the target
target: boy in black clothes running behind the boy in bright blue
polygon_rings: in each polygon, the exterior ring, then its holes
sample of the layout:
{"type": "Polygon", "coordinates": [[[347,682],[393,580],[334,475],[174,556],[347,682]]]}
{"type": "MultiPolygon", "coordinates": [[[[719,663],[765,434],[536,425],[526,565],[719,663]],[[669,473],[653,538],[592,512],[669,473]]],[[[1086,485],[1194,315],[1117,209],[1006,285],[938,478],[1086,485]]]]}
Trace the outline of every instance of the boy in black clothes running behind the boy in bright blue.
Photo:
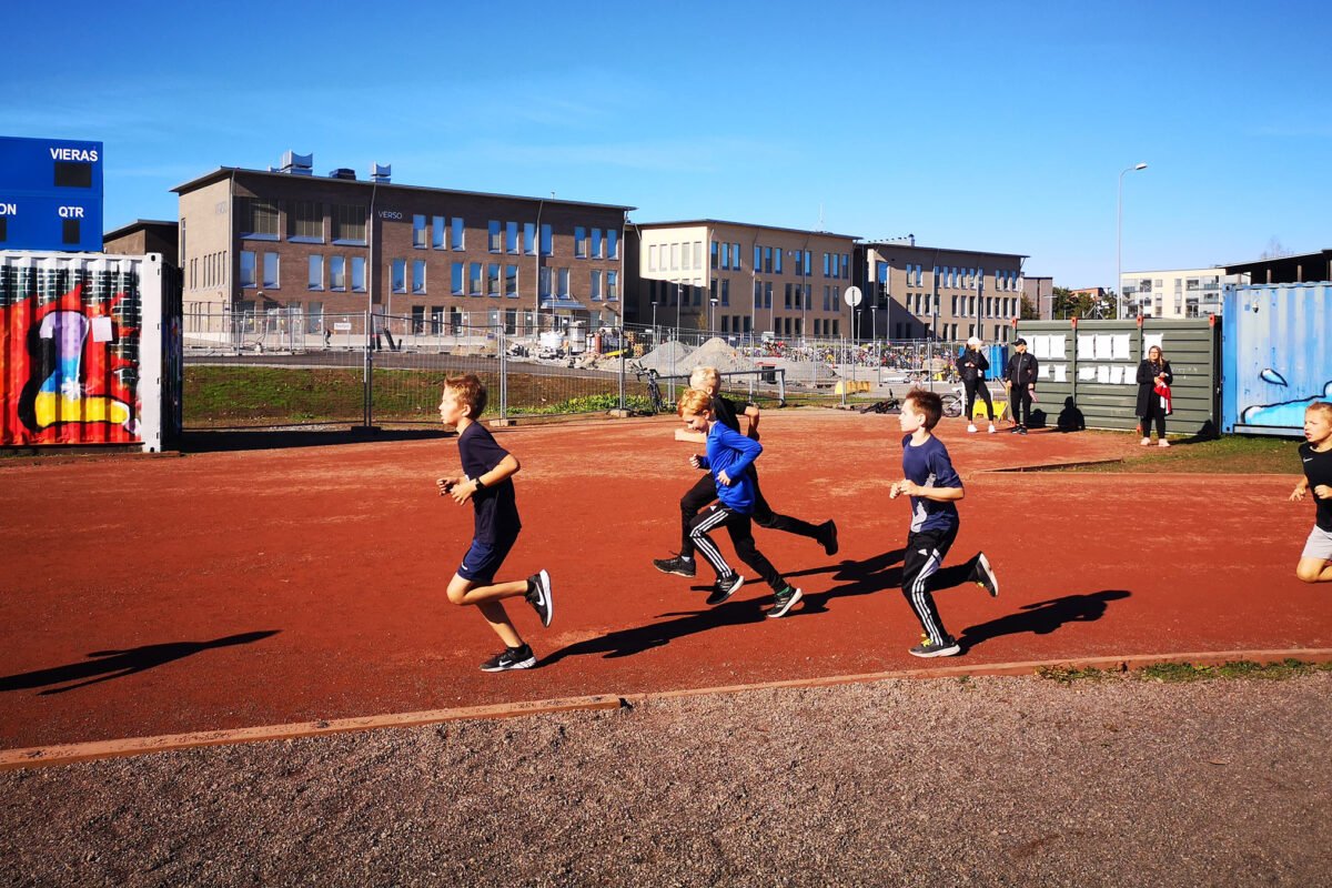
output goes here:
{"type": "MultiPolygon", "coordinates": [[[[749,418],[749,437],[758,441],[759,409],[751,403],[741,410],[738,403],[730,398],[723,398],[719,394],[722,382],[717,367],[695,367],[689,374],[689,387],[706,391],[713,399],[713,415],[717,422],[721,422],[737,434],[741,430],[739,415],[743,413],[749,418]]],[[[702,435],[685,429],[675,430],[675,439],[703,443],[702,435]]],[[[791,518],[790,515],[778,515],[763,498],[763,491],[758,487],[758,471],[753,466],[750,467],[750,481],[754,482],[754,511],[751,517],[755,525],[771,530],[783,530],[798,537],[809,537],[822,545],[826,554],[836,555],[836,525],[832,521],[826,521],[822,525],[811,525],[807,521],[791,518]]],[[[693,576],[697,572],[694,564],[694,542],[689,535],[690,527],[694,523],[694,518],[698,517],[698,510],[714,499],[717,499],[717,482],[709,473],[699,478],[698,483],[690,487],[689,493],[679,501],[679,555],[675,558],[654,558],[653,566],[657,570],[663,574],[677,574],[679,576],[693,576]]]]}

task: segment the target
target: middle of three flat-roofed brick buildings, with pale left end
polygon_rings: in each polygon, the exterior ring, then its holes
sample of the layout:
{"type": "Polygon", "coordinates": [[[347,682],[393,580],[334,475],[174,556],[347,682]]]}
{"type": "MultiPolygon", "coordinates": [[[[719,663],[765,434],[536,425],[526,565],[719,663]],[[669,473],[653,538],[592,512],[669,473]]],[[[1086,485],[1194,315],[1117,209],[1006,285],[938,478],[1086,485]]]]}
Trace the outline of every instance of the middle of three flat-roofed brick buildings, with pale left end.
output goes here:
{"type": "Polygon", "coordinates": [[[850,234],[694,220],[630,222],[630,321],[723,334],[838,337],[850,234]]]}

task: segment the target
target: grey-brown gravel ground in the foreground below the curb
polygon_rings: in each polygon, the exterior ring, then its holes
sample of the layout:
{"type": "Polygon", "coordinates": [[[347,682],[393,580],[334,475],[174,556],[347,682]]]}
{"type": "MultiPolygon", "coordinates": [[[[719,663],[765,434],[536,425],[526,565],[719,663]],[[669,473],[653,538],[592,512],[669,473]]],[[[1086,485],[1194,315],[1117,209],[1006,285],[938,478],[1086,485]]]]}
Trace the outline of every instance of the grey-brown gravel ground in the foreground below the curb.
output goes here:
{"type": "Polygon", "coordinates": [[[0,774],[5,885],[1325,885],[1332,674],[888,680],[0,774]]]}

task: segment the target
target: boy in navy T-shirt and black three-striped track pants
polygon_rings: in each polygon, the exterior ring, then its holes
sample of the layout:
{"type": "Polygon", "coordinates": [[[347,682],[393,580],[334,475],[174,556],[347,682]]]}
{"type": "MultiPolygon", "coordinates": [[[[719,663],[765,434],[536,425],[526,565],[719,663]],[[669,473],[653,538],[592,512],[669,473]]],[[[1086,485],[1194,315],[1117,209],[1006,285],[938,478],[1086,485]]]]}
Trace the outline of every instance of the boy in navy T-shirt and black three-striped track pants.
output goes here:
{"type": "MultiPolygon", "coordinates": [[[[911,498],[911,530],[902,559],[902,594],[924,630],[924,640],[911,648],[915,656],[955,656],[962,652],[956,639],[944,631],[930,594],[930,579],[938,574],[943,556],[958,538],[958,507],[954,503],[966,495],[962,478],[948,459],[948,449],[931,433],[940,415],[943,399],[938,394],[920,389],[907,393],[898,417],[902,431],[907,433],[902,439],[904,478],[895,481],[888,490],[892,499],[902,494],[911,498]]],[[[999,594],[999,580],[984,553],[976,553],[960,567],[966,579],[991,595],[999,594]]]]}

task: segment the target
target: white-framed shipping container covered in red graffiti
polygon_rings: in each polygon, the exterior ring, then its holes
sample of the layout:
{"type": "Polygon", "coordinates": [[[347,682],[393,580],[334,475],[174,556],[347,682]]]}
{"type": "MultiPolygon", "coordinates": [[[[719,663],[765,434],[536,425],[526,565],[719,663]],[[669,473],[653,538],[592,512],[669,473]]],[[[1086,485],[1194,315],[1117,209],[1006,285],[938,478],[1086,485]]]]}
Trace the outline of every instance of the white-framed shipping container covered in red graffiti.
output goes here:
{"type": "Polygon", "coordinates": [[[161,256],[0,252],[0,446],[139,445],[180,426],[161,256]]]}

